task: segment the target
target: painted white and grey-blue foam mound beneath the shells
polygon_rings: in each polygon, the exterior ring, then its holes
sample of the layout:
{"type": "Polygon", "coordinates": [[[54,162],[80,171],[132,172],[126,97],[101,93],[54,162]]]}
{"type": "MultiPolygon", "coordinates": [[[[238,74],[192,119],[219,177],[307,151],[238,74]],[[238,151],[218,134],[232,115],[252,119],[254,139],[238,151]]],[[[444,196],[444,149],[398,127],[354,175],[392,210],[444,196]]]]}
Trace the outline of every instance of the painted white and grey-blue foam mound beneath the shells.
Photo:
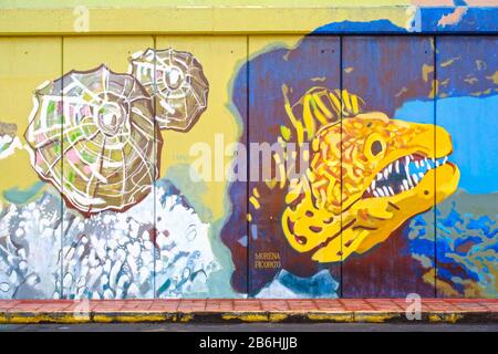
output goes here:
{"type": "Polygon", "coordinates": [[[158,186],[121,214],[85,219],[65,209],[62,222],[61,201],[49,192],[3,208],[0,299],[206,296],[219,269],[209,225],[168,190],[158,186]]]}

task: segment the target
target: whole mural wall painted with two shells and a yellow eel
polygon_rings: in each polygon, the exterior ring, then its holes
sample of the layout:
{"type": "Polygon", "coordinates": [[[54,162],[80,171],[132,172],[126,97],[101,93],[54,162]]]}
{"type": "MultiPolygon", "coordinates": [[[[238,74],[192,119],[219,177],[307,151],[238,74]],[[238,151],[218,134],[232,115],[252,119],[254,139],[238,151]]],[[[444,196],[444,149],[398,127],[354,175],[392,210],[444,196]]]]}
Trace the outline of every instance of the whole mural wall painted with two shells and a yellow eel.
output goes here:
{"type": "Polygon", "coordinates": [[[0,299],[496,298],[498,10],[339,17],[0,37],[0,299]]]}

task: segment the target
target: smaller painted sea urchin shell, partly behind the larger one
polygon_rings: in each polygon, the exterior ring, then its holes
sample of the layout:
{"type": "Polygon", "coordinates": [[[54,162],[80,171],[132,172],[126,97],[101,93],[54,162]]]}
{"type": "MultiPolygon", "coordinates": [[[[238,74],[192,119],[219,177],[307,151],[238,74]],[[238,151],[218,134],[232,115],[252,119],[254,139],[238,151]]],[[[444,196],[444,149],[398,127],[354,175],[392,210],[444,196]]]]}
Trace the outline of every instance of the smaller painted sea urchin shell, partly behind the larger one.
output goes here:
{"type": "Polygon", "coordinates": [[[189,131],[207,108],[208,81],[188,52],[147,49],[132,56],[131,73],[155,97],[159,128],[189,131]]]}

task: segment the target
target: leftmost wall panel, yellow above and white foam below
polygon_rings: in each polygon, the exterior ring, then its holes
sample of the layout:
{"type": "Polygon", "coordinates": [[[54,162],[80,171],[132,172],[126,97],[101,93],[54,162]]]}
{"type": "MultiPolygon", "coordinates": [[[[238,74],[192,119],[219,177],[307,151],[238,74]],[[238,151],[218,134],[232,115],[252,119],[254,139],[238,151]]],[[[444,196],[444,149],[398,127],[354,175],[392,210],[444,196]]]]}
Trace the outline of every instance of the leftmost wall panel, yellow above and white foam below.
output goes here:
{"type": "MultiPolygon", "coordinates": [[[[61,296],[61,195],[32,167],[45,176],[60,170],[60,162],[50,159],[60,139],[45,139],[48,128],[35,122],[27,134],[29,123],[50,110],[42,102],[37,110],[33,96],[61,76],[61,38],[0,39],[0,299],[61,296]],[[28,143],[30,135],[37,138],[28,143]]],[[[52,132],[60,135],[59,122],[52,132]]]]}

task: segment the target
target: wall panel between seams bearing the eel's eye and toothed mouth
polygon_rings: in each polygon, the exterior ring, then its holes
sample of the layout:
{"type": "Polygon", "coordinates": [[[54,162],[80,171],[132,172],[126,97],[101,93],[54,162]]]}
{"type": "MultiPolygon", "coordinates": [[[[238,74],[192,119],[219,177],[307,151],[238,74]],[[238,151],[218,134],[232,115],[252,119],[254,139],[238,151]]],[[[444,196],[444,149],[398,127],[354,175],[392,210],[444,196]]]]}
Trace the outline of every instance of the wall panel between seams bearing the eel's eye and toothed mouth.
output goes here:
{"type": "Polygon", "coordinates": [[[343,295],[434,296],[413,247],[417,238],[434,257],[434,170],[426,159],[434,155],[434,110],[428,103],[426,112],[396,115],[411,100],[433,101],[432,38],[346,37],[342,67],[343,90],[361,97],[364,113],[357,127],[343,122],[344,218],[355,220],[343,231],[344,247],[354,249],[343,263],[343,295]]]}

